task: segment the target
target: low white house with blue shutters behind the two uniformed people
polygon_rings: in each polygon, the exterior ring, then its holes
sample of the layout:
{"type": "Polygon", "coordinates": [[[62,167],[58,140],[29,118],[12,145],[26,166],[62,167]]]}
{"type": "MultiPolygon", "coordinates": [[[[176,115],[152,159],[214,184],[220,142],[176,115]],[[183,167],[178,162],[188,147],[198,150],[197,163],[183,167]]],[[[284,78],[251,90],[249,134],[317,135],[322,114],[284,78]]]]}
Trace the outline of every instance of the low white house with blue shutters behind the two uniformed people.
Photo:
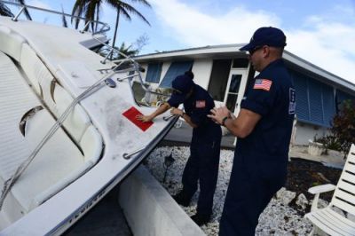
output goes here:
{"type": "MultiPolygon", "coordinates": [[[[194,83],[209,91],[216,104],[225,104],[234,114],[240,110],[248,82],[257,72],[248,62],[248,54],[239,51],[243,44],[225,44],[163,51],[135,59],[145,68],[143,80],[151,87],[170,87],[171,81],[192,69],[194,83]]],[[[333,75],[312,63],[284,51],[283,59],[296,88],[296,140],[323,137],[345,99],[355,99],[355,84],[333,75]]]]}

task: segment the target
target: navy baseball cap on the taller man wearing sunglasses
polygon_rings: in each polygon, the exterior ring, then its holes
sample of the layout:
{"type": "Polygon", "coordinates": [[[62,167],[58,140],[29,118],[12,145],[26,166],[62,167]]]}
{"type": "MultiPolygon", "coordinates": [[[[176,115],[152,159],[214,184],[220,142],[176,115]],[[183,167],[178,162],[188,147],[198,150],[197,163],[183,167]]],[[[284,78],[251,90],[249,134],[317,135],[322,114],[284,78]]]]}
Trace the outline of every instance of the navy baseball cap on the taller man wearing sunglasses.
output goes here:
{"type": "Polygon", "coordinates": [[[250,42],[241,47],[240,51],[250,51],[258,46],[268,45],[271,47],[283,48],[286,46],[286,35],[280,28],[263,27],[256,29],[250,42]]]}

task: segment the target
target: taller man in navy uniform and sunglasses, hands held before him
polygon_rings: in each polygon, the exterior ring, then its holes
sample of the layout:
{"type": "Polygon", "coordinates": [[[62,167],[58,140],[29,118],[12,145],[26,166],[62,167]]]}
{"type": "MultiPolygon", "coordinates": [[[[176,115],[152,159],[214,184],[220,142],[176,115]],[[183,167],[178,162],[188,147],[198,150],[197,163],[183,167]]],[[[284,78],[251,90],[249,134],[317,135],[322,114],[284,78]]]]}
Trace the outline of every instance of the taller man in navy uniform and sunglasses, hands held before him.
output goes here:
{"type": "Polygon", "coordinates": [[[220,236],[255,235],[259,215],[286,182],[296,92],[281,59],[284,46],[279,28],[258,28],[240,49],[260,72],[248,85],[240,114],[235,118],[224,106],[209,115],[238,138],[220,236]]]}

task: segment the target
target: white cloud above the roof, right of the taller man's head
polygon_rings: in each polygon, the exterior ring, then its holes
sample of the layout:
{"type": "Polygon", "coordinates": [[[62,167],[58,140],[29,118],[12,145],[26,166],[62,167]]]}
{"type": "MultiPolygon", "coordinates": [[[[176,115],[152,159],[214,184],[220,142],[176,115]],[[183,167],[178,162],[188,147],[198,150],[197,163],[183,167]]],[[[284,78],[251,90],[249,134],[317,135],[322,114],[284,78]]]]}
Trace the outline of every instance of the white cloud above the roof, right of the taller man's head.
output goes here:
{"type": "Polygon", "coordinates": [[[355,25],[321,19],[309,30],[289,30],[288,51],[355,83],[355,25]]]}

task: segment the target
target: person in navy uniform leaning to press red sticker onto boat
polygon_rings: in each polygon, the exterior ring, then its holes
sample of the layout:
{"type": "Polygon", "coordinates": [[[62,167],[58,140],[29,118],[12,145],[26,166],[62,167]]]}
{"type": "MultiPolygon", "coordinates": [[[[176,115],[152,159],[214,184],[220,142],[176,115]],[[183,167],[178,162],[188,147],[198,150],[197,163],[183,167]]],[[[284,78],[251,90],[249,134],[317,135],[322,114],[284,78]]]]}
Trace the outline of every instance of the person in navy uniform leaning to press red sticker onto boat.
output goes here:
{"type": "Polygon", "coordinates": [[[173,198],[178,204],[187,207],[199,182],[201,192],[197,213],[191,218],[198,225],[206,224],[212,214],[213,195],[217,185],[222,130],[219,124],[207,117],[215,103],[207,90],[193,83],[192,72],[177,76],[172,82],[172,88],[174,92],[166,103],[159,106],[153,114],[138,116],[138,119],[143,122],[152,121],[154,117],[173,107],[171,114],[179,115],[193,127],[190,157],[182,177],[183,189],[173,198]],[[177,108],[182,103],[185,112],[177,108]]]}

